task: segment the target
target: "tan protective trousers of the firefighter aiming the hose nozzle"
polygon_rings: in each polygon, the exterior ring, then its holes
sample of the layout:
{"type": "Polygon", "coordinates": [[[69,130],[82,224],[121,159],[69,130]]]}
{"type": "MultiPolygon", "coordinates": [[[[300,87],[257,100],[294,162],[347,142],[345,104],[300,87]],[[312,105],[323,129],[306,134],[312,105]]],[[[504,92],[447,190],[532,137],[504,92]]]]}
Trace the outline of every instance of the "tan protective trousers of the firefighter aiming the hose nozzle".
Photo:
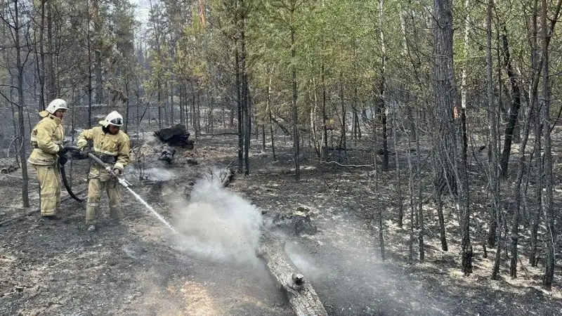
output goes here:
{"type": "Polygon", "coordinates": [[[121,192],[119,183],[114,178],[90,178],[88,185],[88,204],[86,204],[86,224],[97,224],[100,216],[101,191],[105,187],[110,199],[110,217],[119,220],[122,217],[121,192]]]}

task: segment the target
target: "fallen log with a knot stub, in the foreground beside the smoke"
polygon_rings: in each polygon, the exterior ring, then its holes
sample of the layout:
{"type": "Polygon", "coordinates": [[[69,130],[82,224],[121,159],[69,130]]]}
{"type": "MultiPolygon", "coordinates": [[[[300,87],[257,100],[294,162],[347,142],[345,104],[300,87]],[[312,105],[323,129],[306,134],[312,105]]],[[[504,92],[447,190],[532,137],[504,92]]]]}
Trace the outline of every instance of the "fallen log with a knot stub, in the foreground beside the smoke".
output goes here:
{"type": "Polygon", "coordinates": [[[287,256],[284,242],[266,238],[258,247],[257,254],[266,261],[269,272],[277,286],[287,294],[296,315],[327,315],[311,283],[287,256]]]}

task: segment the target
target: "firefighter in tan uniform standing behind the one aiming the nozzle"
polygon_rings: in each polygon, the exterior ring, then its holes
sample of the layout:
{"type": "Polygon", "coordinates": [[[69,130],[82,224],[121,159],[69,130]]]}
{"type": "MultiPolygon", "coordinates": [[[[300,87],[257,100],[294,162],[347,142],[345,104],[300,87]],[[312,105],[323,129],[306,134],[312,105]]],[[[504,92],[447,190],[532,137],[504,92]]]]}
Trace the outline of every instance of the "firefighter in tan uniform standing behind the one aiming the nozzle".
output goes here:
{"type": "Polygon", "coordinates": [[[39,112],[41,121],[31,132],[33,150],[27,159],[39,181],[39,198],[41,200],[41,217],[55,219],[60,211],[60,171],[58,160],[65,159],[63,145],[65,129],[62,125],[64,114],[68,110],[65,100],[55,99],[46,110],[39,112]]]}

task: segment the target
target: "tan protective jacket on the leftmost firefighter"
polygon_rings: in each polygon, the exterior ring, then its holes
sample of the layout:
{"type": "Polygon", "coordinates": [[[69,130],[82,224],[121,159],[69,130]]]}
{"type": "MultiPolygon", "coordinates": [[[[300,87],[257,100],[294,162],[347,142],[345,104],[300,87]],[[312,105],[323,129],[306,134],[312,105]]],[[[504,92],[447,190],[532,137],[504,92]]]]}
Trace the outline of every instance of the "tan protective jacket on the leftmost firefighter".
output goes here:
{"type": "Polygon", "coordinates": [[[27,162],[50,166],[57,162],[57,154],[60,150],[59,145],[65,141],[65,129],[62,121],[53,114],[41,111],[39,115],[43,117],[31,132],[31,145],[33,151],[27,162]]]}

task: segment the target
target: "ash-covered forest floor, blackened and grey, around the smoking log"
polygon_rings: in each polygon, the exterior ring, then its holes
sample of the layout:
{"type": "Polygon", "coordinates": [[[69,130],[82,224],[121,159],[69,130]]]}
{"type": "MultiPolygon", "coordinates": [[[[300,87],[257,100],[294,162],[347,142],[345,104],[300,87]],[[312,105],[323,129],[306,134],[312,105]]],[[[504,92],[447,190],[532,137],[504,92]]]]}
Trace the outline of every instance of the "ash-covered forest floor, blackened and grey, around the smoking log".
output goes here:
{"type": "MultiPolygon", "coordinates": [[[[408,263],[409,222],[398,228],[391,220],[395,173],[379,173],[375,187],[372,167],[318,164],[308,153],[296,182],[290,144],[280,143],[277,161],[270,151],[251,151],[250,175],[237,174],[226,190],[197,191],[200,183],[220,178],[216,169],[235,165],[235,136],[200,137],[195,150],[178,150],[171,166],[150,159],[132,164],[133,190],[178,235],[126,190],[119,225],[107,219],[105,206],[100,230],[87,232],[84,204],[72,199],[63,202],[60,220],[42,220],[32,212],[39,207],[36,180],[30,181],[32,207],[23,209],[20,170],[1,174],[0,315],[292,315],[265,265],[251,253],[256,242],[251,230],[256,218],[269,230],[273,218],[297,210],[307,213],[318,231],[285,230],[285,250],[329,315],[562,313],[558,270],[550,292],[540,289],[542,267],[525,265],[518,279],[509,279],[509,267],[502,265],[505,279],[492,281],[495,249],[483,258],[475,246],[474,273],[462,276],[456,228],[448,231],[450,250],[440,251],[429,205],[426,262],[408,263]],[[190,163],[193,159],[198,164],[190,163]],[[159,175],[166,181],[159,183],[159,175]],[[373,220],[380,207],[386,261],[373,220]]],[[[355,157],[353,164],[370,164],[368,157],[358,162],[355,157]]],[[[85,187],[85,177],[86,163],[74,162],[76,191],[85,187]]],[[[447,223],[455,220],[447,213],[447,223]]],[[[478,232],[473,236],[478,239],[478,232]]]]}

